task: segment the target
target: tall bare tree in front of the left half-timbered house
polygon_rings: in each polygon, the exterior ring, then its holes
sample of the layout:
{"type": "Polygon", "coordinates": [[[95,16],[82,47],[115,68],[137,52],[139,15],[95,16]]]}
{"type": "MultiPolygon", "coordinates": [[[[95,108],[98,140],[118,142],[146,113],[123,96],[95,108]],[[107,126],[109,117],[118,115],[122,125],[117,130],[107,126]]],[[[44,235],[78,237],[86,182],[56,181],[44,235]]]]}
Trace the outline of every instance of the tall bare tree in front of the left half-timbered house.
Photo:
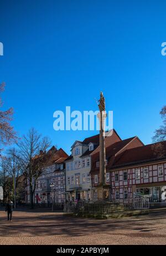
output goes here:
{"type": "Polygon", "coordinates": [[[42,137],[34,128],[30,129],[27,135],[17,144],[19,147],[18,160],[27,178],[30,188],[30,203],[33,208],[33,197],[38,177],[41,175],[44,166],[46,153],[50,146],[48,137],[42,137]]]}

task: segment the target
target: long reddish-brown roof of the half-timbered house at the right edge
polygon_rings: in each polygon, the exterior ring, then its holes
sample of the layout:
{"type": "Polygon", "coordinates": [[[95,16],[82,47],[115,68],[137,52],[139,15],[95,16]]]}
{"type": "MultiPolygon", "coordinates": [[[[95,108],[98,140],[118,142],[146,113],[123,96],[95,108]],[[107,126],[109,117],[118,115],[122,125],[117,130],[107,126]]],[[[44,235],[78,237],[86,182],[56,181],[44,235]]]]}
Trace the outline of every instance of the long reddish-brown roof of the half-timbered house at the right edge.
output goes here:
{"type": "Polygon", "coordinates": [[[122,153],[120,158],[115,158],[111,167],[118,168],[137,163],[144,163],[166,158],[166,141],[148,144],[142,147],[128,149],[122,153]]]}

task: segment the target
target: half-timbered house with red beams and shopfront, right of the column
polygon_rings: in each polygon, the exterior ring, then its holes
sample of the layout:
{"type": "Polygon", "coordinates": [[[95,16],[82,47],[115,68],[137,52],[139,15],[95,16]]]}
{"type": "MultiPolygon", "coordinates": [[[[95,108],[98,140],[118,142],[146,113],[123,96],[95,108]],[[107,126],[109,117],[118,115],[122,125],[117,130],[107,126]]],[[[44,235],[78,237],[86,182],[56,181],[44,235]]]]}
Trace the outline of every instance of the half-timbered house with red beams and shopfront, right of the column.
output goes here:
{"type": "Polygon", "coordinates": [[[110,166],[112,199],[149,196],[166,201],[166,141],[128,149],[110,166]]]}

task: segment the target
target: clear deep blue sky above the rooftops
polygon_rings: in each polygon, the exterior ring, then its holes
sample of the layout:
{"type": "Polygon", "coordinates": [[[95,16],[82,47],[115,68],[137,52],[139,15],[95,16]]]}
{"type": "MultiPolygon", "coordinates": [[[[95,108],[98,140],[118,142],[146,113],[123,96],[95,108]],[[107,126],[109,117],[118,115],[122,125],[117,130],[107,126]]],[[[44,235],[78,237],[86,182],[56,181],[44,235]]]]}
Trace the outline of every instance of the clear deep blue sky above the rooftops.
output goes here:
{"type": "Polygon", "coordinates": [[[166,104],[165,9],[161,0],[1,0],[3,107],[14,107],[19,135],[33,126],[69,153],[94,132],[54,131],[53,112],[95,111],[103,91],[121,138],[151,143],[166,104]]]}

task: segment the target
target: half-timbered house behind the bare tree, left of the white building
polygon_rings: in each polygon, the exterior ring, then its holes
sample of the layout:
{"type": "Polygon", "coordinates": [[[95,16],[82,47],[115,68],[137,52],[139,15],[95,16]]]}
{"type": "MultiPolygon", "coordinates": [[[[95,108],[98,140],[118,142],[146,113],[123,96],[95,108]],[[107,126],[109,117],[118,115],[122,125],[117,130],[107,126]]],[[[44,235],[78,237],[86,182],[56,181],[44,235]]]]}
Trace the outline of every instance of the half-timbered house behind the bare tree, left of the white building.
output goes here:
{"type": "MultiPolygon", "coordinates": [[[[34,193],[34,203],[61,203],[65,201],[65,160],[68,154],[63,150],[51,147],[46,152],[45,166],[42,168],[34,193]],[[51,191],[50,184],[54,183],[51,191]]],[[[29,184],[26,187],[26,202],[30,203],[29,184]]]]}

